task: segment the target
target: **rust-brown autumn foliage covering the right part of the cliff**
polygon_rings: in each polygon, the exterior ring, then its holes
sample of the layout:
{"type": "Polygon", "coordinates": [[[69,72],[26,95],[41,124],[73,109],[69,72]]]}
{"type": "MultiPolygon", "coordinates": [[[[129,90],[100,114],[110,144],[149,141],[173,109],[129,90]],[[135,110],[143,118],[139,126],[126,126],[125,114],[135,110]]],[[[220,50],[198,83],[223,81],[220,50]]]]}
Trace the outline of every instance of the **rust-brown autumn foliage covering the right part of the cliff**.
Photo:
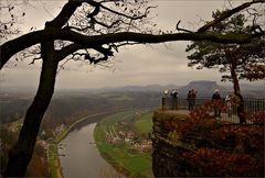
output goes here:
{"type": "Polygon", "coordinates": [[[184,120],[161,121],[168,132],[200,137],[197,149],[183,154],[193,168],[190,176],[264,176],[265,112],[247,114],[251,124],[237,124],[215,120],[213,108],[226,110],[221,102],[208,102],[184,120]]]}

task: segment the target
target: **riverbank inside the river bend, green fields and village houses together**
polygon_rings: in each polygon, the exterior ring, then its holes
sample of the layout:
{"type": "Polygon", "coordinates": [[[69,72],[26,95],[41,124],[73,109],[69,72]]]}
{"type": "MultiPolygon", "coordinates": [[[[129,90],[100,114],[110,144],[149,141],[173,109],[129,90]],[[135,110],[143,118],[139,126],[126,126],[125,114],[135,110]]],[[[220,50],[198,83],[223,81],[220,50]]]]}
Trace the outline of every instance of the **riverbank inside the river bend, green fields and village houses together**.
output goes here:
{"type": "Polygon", "coordinates": [[[126,111],[97,123],[94,138],[100,155],[128,177],[153,177],[151,170],[151,112],[126,111]]]}

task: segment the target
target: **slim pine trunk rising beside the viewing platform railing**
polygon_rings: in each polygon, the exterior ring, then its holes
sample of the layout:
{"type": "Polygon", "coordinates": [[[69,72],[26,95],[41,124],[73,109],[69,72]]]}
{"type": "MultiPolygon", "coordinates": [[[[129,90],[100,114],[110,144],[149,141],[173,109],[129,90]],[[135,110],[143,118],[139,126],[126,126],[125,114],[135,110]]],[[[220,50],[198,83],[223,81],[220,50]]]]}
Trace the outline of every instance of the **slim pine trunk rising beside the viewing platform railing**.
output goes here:
{"type": "Polygon", "coordinates": [[[244,98],[241,94],[240,81],[236,76],[235,66],[236,66],[235,64],[231,65],[231,77],[233,79],[234,96],[236,97],[236,101],[237,101],[236,111],[237,111],[237,116],[240,118],[240,123],[246,123],[244,98]]]}

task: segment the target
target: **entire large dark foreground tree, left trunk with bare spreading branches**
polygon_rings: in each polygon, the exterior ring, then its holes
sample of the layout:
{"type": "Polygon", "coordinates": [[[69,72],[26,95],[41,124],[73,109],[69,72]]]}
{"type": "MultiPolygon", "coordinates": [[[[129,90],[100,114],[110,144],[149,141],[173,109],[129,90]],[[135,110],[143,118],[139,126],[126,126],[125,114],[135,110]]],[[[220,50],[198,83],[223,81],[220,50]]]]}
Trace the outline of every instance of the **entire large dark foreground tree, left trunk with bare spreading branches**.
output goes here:
{"type": "MultiPolygon", "coordinates": [[[[247,43],[264,35],[263,31],[234,36],[203,31],[153,34],[152,23],[146,21],[146,16],[152,8],[148,7],[147,2],[147,0],[68,0],[57,16],[45,23],[44,30],[30,32],[0,46],[1,68],[15,53],[39,43],[43,60],[36,96],[26,111],[19,140],[9,152],[9,163],[3,176],[24,176],[32,157],[43,114],[54,92],[59,63],[66,57],[78,56],[80,59],[91,64],[98,64],[112,57],[120,46],[135,43],[209,40],[230,44],[247,43]],[[144,27],[144,24],[147,27],[144,27]],[[63,43],[61,43],[62,41],[63,43]]],[[[235,12],[234,9],[231,11],[236,13],[259,2],[262,1],[247,2],[235,12]]]]}

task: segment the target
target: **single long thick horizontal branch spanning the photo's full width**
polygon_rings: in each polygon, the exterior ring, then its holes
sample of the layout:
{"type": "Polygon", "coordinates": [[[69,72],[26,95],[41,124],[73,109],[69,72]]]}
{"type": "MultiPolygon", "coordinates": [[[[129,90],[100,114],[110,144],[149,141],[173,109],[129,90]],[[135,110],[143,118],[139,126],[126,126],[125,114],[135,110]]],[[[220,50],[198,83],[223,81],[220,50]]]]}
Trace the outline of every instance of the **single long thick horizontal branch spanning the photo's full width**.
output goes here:
{"type": "Polygon", "coordinates": [[[247,43],[256,36],[264,35],[264,31],[256,34],[212,34],[212,33],[172,33],[172,34],[142,34],[134,32],[120,32],[115,34],[103,34],[87,36],[70,30],[52,29],[51,31],[41,30],[28,33],[18,38],[9,41],[0,46],[1,49],[1,68],[15,53],[30,47],[32,44],[38,44],[51,40],[63,40],[75,42],[84,48],[100,46],[103,44],[119,43],[119,42],[138,42],[138,43],[163,43],[172,41],[203,41],[209,40],[216,43],[247,43]],[[51,32],[52,31],[52,32],[51,32]]]}

